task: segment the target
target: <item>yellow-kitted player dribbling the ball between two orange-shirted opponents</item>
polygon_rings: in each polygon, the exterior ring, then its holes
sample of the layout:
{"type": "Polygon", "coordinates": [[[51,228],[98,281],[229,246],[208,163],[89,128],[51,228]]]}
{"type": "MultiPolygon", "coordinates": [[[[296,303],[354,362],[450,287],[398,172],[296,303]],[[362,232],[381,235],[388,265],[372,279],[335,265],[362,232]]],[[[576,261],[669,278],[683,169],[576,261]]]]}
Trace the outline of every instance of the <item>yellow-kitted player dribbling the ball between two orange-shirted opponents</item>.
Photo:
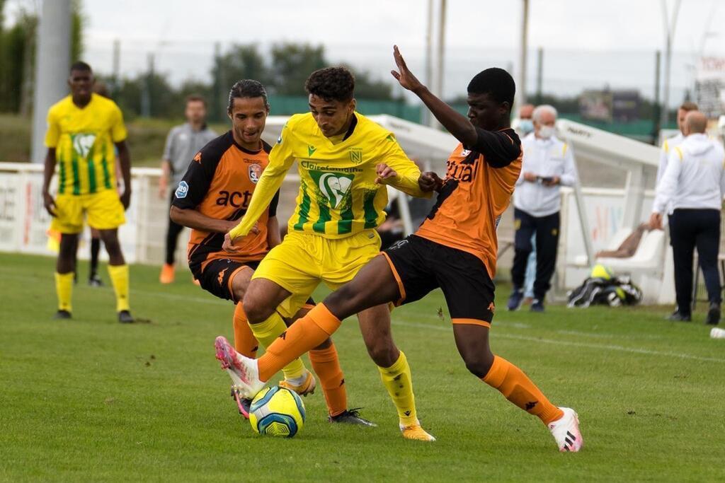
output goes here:
{"type": "MultiPolygon", "coordinates": [[[[226,236],[225,248],[236,250],[297,161],[301,182],[289,232],[261,261],[244,295],[253,332],[279,316],[277,306],[304,300],[320,282],[333,289],[344,285],[379,253],[375,228],[385,219],[384,184],[413,196],[429,196],[432,190],[421,182],[420,170],[394,135],[355,112],[354,88],[354,77],[343,67],[312,72],[305,83],[311,112],[290,117],[283,127],[247,214],[226,236]]],[[[403,436],[433,441],[416,416],[405,354],[392,343],[389,307],[357,315],[370,356],[397,408],[403,436]]],[[[234,371],[233,347],[224,337],[215,345],[223,368],[234,371]]]]}

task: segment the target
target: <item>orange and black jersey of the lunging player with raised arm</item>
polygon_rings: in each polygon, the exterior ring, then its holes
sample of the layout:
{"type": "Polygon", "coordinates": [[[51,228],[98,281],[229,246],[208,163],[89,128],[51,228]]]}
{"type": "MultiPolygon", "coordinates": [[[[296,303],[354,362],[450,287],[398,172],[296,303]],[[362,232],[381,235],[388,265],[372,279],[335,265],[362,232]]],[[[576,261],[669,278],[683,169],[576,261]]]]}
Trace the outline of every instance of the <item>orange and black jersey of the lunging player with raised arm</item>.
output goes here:
{"type": "MultiPolygon", "coordinates": [[[[492,135],[493,133],[489,133],[492,135]]],[[[415,235],[457,248],[484,262],[489,276],[496,274],[498,240],[496,227],[508,207],[521,172],[521,143],[513,130],[495,133],[508,148],[513,161],[494,167],[480,151],[459,144],[447,161],[444,185],[435,206],[415,235]],[[516,153],[518,152],[518,156],[516,153]]],[[[479,149],[478,146],[474,149],[479,149]]],[[[489,155],[493,157],[493,155],[489,155]]]]}

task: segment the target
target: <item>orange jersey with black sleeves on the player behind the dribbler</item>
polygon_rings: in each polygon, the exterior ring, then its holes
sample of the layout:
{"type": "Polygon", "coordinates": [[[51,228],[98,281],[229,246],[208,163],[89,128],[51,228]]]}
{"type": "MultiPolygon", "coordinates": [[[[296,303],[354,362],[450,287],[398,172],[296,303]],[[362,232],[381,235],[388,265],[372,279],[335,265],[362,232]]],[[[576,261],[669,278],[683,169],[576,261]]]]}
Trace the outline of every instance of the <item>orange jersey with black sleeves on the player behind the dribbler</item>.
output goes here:
{"type": "MultiPolygon", "coordinates": [[[[196,209],[215,219],[237,220],[247,213],[254,187],[269,162],[270,146],[262,142],[257,152],[247,151],[234,142],[231,131],[204,146],[189,163],[178,188],[173,206],[196,209]]],[[[241,240],[238,253],[223,251],[224,234],[191,230],[188,242],[188,264],[201,271],[212,260],[259,261],[269,251],[267,222],[276,216],[279,193],[258,220],[258,233],[249,233],[241,240]]]]}

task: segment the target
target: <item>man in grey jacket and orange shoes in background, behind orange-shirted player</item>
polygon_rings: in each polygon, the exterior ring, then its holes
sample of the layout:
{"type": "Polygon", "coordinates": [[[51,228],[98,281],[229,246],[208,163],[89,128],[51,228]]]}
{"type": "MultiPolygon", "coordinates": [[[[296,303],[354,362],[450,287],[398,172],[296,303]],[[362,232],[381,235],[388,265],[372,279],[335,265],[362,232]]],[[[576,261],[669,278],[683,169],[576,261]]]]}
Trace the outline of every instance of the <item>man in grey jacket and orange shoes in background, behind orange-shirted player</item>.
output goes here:
{"type": "MultiPolygon", "coordinates": [[[[206,144],[217,137],[217,133],[207,127],[207,102],[202,96],[188,96],[184,111],[186,123],[173,127],[166,138],[164,156],[161,161],[162,175],[159,179],[159,197],[168,198],[168,188],[171,186],[171,201],[176,185],[179,184],[188,164],[194,159],[196,153],[206,144]]],[[[168,210],[167,210],[168,212],[168,210]]],[[[166,260],[162,266],[159,282],[171,283],[174,281],[174,253],[178,235],[183,230],[181,224],[169,219],[166,231],[166,260]]]]}

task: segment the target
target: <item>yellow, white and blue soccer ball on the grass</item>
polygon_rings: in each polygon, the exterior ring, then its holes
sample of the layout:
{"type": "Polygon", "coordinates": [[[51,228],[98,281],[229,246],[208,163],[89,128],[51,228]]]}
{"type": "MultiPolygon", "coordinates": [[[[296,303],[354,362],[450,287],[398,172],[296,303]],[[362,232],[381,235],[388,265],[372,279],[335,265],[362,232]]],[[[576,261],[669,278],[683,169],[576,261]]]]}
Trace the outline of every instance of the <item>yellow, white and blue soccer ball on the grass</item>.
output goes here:
{"type": "Polygon", "coordinates": [[[267,387],[254,396],[249,406],[249,424],[259,434],[293,437],[305,424],[305,403],[297,392],[267,387]]]}

